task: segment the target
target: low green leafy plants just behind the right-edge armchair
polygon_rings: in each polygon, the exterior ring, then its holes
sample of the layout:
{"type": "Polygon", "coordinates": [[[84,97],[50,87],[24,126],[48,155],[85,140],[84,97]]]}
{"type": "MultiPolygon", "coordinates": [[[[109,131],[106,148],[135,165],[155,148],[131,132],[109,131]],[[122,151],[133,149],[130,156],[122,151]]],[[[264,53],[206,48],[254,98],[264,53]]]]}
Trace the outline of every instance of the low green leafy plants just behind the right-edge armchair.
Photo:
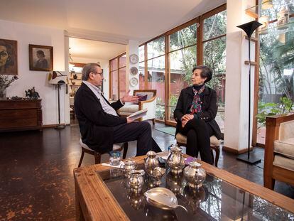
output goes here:
{"type": "Polygon", "coordinates": [[[277,114],[286,114],[293,111],[293,101],[288,97],[281,97],[281,103],[264,103],[258,102],[258,111],[256,114],[257,122],[260,126],[265,126],[266,116],[273,116],[277,114]]]}

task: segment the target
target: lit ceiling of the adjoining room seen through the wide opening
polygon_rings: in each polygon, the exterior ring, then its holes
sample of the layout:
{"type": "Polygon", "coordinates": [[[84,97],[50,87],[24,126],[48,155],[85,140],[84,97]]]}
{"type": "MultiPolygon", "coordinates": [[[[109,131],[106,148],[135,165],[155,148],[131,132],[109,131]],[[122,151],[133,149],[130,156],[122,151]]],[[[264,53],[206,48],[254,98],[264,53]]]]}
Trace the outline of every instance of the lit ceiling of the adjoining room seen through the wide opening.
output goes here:
{"type": "Polygon", "coordinates": [[[110,60],[125,51],[126,45],[70,38],[70,55],[72,58],[110,60]]]}

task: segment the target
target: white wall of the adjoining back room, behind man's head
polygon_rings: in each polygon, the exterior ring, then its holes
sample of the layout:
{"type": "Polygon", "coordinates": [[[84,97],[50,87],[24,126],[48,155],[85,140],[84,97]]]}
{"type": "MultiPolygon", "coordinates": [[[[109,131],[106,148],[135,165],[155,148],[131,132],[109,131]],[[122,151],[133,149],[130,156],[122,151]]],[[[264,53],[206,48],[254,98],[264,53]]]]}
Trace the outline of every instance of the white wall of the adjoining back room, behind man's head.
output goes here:
{"type": "MultiPolygon", "coordinates": [[[[98,57],[98,56],[97,56],[98,57]]],[[[100,63],[101,68],[103,69],[103,91],[104,91],[104,97],[106,99],[109,98],[109,60],[104,60],[100,58],[77,58],[77,57],[72,57],[72,61],[74,63],[100,63]]]]}

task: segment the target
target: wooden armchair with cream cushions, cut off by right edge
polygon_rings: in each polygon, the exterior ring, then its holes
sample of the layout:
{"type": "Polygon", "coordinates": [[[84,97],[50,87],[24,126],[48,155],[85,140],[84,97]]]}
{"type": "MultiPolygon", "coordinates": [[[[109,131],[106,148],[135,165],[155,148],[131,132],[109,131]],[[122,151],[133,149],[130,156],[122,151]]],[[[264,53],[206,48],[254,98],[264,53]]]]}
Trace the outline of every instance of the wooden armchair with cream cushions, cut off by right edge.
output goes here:
{"type": "Polygon", "coordinates": [[[275,180],[294,185],[294,114],[266,117],[264,186],[273,190],[275,180]]]}

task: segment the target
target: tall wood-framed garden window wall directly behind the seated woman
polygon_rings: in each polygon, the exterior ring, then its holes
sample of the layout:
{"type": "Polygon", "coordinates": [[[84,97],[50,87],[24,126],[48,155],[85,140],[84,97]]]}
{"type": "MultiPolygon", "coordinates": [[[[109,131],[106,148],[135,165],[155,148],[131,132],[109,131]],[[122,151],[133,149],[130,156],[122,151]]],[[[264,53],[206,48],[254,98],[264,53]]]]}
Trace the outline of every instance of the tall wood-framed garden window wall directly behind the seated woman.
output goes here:
{"type": "Polygon", "coordinates": [[[156,119],[175,125],[173,111],[180,91],[190,85],[192,68],[205,64],[214,72],[209,87],[217,91],[217,122],[224,128],[226,26],[223,5],[140,45],[139,88],[157,90],[156,119]]]}

